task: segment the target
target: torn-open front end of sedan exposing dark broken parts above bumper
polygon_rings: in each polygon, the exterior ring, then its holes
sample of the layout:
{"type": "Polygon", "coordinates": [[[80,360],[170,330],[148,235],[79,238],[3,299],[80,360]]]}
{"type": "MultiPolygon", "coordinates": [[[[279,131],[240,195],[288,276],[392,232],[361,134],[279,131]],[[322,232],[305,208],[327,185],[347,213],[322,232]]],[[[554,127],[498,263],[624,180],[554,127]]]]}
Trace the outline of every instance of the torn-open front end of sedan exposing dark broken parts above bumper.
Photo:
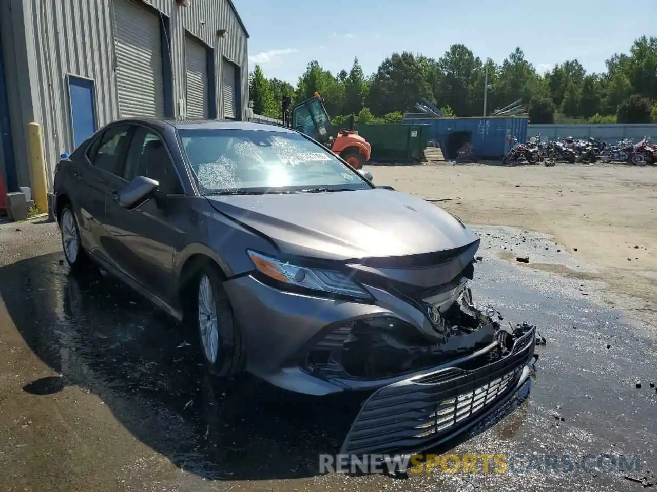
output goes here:
{"type": "Polygon", "coordinates": [[[477,358],[476,363],[484,365],[509,354],[514,341],[530,328],[502,327],[503,316],[490,306],[475,306],[464,283],[454,290],[439,304],[424,306],[438,337],[430,339],[393,316],[359,319],[317,342],[307,356],[306,369],[324,377],[383,379],[436,367],[489,347],[477,358]],[[440,310],[435,307],[439,305],[440,310]]]}

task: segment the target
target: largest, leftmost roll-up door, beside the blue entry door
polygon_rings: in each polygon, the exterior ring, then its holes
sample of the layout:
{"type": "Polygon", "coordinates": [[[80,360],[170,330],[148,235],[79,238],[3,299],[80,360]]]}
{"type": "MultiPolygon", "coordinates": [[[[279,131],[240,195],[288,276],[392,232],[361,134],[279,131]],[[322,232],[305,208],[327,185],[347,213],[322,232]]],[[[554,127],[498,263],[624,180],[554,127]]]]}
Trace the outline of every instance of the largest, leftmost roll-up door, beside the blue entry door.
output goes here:
{"type": "Polygon", "coordinates": [[[116,88],[122,117],[164,117],[160,19],[136,0],[114,0],[116,88]]]}

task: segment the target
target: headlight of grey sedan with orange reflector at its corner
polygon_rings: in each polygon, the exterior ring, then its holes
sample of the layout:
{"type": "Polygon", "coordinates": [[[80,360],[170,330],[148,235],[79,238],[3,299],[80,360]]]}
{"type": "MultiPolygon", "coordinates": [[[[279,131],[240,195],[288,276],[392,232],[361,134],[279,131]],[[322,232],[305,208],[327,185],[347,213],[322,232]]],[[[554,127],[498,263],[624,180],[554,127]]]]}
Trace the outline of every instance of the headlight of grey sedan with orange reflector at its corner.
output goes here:
{"type": "Polygon", "coordinates": [[[370,299],[363,287],[342,272],[296,266],[256,251],[247,251],[254,266],[261,274],[279,282],[325,293],[370,299]]]}

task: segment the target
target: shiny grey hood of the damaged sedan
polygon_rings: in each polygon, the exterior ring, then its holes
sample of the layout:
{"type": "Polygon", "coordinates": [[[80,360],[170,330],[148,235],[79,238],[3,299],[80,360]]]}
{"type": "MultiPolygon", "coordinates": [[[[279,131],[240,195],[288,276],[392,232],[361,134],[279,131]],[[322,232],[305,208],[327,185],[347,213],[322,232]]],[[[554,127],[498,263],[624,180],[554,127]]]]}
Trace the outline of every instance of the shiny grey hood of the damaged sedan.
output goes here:
{"type": "Polygon", "coordinates": [[[290,255],[330,260],[419,255],[478,240],[436,205],[380,188],[207,198],[219,213],[264,234],[290,255]]]}

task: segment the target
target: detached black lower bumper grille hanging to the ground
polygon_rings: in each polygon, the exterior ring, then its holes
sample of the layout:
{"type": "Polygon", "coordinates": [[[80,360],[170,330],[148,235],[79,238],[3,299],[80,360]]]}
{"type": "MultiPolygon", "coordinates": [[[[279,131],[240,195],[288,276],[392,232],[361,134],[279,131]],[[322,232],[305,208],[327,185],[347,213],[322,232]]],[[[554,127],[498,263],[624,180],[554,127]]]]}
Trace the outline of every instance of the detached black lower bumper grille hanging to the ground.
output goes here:
{"type": "Polygon", "coordinates": [[[412,454],[472,426],[526,379],[535,328],[507,356],[476,369],[447,367],[376,390],[363,404],[341,454],[412,454]]]}

